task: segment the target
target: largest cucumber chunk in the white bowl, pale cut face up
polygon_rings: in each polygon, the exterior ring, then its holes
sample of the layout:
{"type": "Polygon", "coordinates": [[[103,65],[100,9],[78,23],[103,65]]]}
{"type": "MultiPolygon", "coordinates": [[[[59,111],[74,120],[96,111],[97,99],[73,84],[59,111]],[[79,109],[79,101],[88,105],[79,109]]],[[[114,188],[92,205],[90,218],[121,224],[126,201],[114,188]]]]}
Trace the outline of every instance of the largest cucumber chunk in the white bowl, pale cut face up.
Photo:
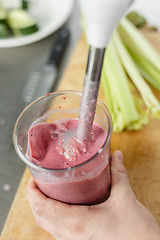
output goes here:
{"type": "Polygon", "coordinates": [[[13,9],[9,12],[8,25],[15,35],[28,35],[39,29],[35,20],[23,9],[13,9]]]}

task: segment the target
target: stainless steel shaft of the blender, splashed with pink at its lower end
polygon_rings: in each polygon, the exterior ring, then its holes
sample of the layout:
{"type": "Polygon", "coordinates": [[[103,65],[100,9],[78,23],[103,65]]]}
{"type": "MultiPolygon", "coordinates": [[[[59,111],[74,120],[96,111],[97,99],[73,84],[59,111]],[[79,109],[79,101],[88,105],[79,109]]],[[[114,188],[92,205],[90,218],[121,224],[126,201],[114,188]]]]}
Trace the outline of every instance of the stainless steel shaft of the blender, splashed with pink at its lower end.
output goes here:
{"type": "Polygon", "coordinates": [[[90,46],[84,79],[76,138],[89,140],[96,110],[105,48],[90,46]]]}

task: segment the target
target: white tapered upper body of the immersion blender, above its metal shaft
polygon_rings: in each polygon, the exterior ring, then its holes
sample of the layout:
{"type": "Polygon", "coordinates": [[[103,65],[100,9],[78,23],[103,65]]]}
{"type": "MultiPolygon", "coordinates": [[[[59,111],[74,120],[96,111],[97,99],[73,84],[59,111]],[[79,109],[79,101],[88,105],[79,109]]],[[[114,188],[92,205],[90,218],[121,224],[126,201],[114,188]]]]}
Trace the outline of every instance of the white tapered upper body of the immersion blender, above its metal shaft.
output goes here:
{"type": "Polygon", "coordinates": [[[89,45],[105,48],[116,28],[134,0],[79,0],[87,23],[89,45]]]}

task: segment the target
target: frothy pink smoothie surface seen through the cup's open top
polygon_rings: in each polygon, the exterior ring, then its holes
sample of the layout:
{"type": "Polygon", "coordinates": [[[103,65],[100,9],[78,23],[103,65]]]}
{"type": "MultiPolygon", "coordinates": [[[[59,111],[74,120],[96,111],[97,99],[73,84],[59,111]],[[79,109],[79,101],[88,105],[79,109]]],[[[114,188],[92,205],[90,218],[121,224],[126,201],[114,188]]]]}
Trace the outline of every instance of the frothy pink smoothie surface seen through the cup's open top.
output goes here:
{"type": "Polygon", "coordinates": [[[90,140],[78,141],[77,123],[72,119],[33,126],[28,133],[30,160],[45,168],[65,169],[91,159],[103,147],[106,133],[94,123],[90,140]]]}

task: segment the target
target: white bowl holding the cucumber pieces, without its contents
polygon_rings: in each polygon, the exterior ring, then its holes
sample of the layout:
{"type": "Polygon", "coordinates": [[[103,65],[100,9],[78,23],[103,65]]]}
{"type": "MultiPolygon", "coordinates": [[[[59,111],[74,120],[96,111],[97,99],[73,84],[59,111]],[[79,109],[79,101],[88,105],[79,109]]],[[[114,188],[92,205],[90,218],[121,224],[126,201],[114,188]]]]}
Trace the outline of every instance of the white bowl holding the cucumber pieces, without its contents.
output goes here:
{"type": "Polygon", "coordinates": [[[63,25],[72,8],[73,0],[34,0],[29,12],[37,20],[39,31],[27,36],[0,39],[0,48],[23,46],[49,36],[63,25]]]}

